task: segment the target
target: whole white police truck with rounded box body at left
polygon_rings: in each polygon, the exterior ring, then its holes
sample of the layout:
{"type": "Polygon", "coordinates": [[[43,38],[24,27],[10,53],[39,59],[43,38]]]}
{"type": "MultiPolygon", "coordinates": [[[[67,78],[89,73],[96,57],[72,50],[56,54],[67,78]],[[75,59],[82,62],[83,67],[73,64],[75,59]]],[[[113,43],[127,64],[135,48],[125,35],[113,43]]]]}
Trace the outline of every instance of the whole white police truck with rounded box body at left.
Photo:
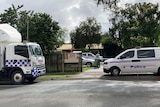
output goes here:
{"type": "Polygon", "coordinates": [[[0,24],[0,79],[22,84],[45,73],[45,58],[39,44],[22,42],[15,28],[0,24]]]}

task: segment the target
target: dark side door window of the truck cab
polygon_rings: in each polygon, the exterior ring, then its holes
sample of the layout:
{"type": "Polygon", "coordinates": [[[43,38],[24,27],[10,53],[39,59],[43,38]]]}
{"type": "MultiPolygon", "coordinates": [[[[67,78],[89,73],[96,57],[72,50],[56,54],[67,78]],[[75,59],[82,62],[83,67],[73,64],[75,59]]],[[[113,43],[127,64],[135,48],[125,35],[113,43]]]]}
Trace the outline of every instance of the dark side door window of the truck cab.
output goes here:
{"type": "Polygon", "coordinates": [[[22,46],[22,45],[15,46],[15,54],[29,58],[27,46],[22,46]]]}

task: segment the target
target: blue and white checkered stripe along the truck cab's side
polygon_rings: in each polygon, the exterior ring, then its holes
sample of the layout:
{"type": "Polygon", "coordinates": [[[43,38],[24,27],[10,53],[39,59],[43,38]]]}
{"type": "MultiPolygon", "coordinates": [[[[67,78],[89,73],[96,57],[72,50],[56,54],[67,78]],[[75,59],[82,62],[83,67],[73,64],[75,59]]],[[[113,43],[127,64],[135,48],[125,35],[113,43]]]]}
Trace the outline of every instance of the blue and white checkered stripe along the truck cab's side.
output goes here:
{"type": "Polygon", "coordinates": [[[31,67],[30,59],[6,60],[6,67],[31,67]]]}

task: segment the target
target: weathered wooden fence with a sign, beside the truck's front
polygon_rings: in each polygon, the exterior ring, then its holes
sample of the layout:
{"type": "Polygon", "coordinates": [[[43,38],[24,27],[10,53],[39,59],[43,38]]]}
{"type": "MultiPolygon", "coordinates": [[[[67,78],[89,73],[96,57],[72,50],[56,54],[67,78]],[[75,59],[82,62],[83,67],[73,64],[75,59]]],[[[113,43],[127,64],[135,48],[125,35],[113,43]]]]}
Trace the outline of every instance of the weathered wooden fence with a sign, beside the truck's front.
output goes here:
{"type": "Polygon", "coordinates": [[[47,72],[82,72],[81,53],[59,51],[45,58],[47,72]]]}

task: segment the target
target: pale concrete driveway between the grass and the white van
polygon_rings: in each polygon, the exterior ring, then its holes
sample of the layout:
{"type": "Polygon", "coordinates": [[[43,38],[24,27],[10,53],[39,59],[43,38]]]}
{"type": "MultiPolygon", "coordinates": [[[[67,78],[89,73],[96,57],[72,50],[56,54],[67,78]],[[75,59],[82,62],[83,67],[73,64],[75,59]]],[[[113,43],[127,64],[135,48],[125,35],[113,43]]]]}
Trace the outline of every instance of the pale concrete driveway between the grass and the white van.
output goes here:
{"type": "Polygon", "coordinates": [[[73,79],[98,79],[101,78],[105,73],[103,72],[103,66],[100,66],[100,68],[93,68],[90,70],[87,70],[85,72],[82,72],[78,75],[74,75],[73,79]]]}

